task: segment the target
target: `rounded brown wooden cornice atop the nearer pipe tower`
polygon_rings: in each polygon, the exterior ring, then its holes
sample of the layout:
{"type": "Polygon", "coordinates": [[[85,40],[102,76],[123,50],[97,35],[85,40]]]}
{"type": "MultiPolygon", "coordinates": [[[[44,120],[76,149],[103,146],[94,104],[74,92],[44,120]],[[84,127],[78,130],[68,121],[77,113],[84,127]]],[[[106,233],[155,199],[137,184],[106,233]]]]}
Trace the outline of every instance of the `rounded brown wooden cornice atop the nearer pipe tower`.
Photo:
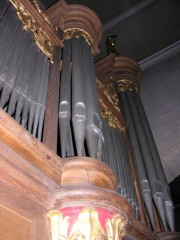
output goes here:
{"type": "Polygon", "coordinates": [[[98,44],[102,37],[102,25],[97,15],[89,8],[82,5],[68,5],[64,0],[59,0],[46,10],[55,27],[60,27],[65,33],[64,37],[84,36],[92,45],[92,53],[99,53],[98,44]],[[68,32],[68,33],[67,33],[68,32]]]}

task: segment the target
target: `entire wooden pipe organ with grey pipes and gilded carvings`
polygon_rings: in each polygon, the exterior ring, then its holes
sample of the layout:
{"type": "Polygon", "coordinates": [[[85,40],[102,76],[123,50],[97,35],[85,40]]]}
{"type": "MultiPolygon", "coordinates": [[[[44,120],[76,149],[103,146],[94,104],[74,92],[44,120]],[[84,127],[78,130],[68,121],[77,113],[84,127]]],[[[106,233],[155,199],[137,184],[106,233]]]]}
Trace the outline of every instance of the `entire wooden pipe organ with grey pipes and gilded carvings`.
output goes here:
{"type": "Polygon", "coordinates": [[[102,28],[86,7],[10,2],[0,8],[4,239],[179,239],[139,65],[114,45],[93,63],[102,28]]]}

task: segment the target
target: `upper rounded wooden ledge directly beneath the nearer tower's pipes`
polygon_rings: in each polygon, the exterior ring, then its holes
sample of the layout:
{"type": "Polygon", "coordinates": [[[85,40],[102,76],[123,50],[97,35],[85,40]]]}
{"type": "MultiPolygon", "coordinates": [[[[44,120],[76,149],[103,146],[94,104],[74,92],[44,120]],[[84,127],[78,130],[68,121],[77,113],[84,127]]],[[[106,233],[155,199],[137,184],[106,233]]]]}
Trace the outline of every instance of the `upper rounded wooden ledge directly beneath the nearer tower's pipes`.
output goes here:
{"type": "Polygon", "coordinates": [[[61,186],[97,186],[114,190],[117,180],[114,172],[99,160],[89,157],[64,159],[61,186]]]}

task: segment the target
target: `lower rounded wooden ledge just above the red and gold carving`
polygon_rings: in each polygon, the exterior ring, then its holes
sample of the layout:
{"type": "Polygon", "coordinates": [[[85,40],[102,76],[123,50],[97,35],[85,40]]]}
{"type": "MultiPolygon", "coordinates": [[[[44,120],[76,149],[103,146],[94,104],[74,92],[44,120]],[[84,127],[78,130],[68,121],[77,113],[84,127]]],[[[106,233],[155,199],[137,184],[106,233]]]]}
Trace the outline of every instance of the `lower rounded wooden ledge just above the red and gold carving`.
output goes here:
{"type": "Polygon", "coordinates": [[[57,189],[54,193],[54,207],[88,206],[102,207],[131,219],[133,212],[129,202],[120,194],[100,187],[74,186],[57,189]]]}

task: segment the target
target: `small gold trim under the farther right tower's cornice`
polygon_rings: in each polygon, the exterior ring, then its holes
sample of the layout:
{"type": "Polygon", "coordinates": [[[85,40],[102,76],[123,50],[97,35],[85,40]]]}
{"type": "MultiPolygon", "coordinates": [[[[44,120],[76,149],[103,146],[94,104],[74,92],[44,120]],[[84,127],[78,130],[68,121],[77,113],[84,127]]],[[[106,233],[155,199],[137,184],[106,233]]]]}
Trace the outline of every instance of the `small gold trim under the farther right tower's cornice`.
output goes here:
{"type": "Polygon", "coordinates": [[[137,93],[140,93],[140,84],[138,81],[121,79],[121,80],[118,80],[117,83],[118,83],[119,91],[136,90],[137,93]]]}

